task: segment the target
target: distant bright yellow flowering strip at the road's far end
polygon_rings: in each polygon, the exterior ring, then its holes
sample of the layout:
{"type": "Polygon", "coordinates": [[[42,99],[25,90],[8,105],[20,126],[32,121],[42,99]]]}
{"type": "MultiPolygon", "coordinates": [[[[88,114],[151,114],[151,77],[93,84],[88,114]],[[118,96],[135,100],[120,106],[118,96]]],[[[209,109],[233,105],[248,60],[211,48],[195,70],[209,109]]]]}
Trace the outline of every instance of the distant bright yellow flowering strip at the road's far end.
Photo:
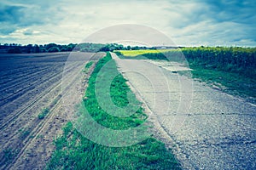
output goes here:
{"type": "Polygon", "coordinates": [[[164,53],[171,51],[173,49],[139,49],[139,50],[114,50],[115,52],[120,52],[124,56],[135,57],[142,54],[152,54],[152,53],[164,53]]]}

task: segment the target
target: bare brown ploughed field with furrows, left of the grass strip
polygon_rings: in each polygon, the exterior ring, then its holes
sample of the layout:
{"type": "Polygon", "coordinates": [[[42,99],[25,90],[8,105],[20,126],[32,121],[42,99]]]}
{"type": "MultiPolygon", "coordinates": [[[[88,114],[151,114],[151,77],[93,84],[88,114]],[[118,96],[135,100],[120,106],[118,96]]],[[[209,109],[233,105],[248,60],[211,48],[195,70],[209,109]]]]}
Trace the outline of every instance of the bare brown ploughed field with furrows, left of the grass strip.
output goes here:
{"type": "MultiPolygon", "coordinates": [[[[78,53],[77,58],[89,60],[92,55],[78,53]]],[[[86,62],[68,65],[69,81],[61,86],[67,53],[17,56],[1,56],[1,64],[5,64],[0,71],[0,169],[42,169],[55,148],[53,140],[67,122],[62,111],[62,89],[65,92],[80,80],[77,73],[86,62]],[[49,113],[38,119],[46,107],[49,113]]]]}

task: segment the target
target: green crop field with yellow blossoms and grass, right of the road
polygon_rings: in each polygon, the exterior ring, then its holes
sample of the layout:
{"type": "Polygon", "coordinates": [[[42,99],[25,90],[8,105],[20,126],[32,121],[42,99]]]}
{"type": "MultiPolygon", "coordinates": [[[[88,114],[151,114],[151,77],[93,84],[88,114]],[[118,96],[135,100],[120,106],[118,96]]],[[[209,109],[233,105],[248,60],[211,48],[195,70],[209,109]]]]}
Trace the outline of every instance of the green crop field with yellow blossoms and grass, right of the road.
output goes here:
{"type": "MultiPolygon", "coordinates": [[[[122,59],[139,59],[139,55],[148,59],[166,59],[165,55],[174,56],[175,52],[177,49],[115,51],[122,59]]],[[[255,69],[251,69],[255,65],[255,48],[181,48],[181,52],[186,56],[195,80],[256,104],[255,69]],[[247,60],[242,59],[243,54],[247,60]],[[249,63],[250,67],[247,68],[244,63],[249,63]]],[[[177,73],[182,74],[182,71],[177,73]]]]}

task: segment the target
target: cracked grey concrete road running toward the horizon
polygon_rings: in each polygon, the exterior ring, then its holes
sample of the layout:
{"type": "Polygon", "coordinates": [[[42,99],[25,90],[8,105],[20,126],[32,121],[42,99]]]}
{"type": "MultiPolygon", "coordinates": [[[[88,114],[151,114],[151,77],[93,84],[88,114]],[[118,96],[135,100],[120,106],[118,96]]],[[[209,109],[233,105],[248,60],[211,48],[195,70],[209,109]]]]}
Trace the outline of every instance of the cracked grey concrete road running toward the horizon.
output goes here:
{"type": "Polygon", "coordinates": [[[183,65],[112,56],[183,169],[256,169],[255,105],[195,82],[183,65]]]}

